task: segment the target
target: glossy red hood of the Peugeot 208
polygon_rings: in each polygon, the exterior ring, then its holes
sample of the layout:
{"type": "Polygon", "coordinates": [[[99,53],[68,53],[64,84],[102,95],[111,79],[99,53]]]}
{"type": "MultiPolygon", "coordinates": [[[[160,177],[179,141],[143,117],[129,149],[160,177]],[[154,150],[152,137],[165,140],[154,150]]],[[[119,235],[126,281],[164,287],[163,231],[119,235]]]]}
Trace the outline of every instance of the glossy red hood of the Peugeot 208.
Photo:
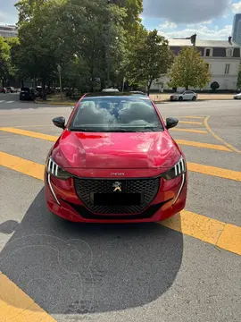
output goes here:
{"type": "Polygon", "coordinates": [[[63,131],[52,150],[62,168],[170,168],[180,151],[168,131],[89,133],[63,131]]]}

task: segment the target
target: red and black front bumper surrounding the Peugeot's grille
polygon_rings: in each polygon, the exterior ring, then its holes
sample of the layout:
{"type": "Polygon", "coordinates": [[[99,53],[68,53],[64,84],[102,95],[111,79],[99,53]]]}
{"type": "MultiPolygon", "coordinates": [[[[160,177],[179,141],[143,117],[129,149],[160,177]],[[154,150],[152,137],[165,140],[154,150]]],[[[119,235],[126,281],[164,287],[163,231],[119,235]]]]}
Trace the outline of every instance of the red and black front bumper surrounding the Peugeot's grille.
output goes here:
{"type": "Polygon", "coordinates": [[[59,180],[45,174],[46,203],[57,216],[85,223],[140,223],[158,222],[179,213],[187,199],[187,173],[170,181],[160,178],[160,186],[153,201],[139,213],[100,214],[87,208],[75,191],[73,179],[59,180]],[[178,197],[178,198],[177,198],[178,197]]]}

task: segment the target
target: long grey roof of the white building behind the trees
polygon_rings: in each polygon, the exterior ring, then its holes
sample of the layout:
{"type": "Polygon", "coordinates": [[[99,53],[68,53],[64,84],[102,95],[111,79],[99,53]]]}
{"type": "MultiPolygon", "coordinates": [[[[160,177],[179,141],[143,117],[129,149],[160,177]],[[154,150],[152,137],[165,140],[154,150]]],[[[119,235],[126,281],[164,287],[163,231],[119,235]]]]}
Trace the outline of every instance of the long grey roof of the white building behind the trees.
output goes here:
{"type": "MultiPolygon", "coordinates": [[[[188,47],[193,46],[190,39],[168,39],[170,47],[188,47]]],[[[234,48],[239,46],[233,40],[202,40],[196,39],[196,47],[219,47],[219,48],[234,48]]]]}

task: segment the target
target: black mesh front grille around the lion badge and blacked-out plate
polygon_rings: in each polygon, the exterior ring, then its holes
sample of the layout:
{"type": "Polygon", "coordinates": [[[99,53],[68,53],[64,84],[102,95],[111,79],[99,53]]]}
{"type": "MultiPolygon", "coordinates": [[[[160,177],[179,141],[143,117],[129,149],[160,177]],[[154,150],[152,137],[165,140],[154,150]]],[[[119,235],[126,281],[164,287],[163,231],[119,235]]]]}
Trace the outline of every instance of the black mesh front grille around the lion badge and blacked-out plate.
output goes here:
{"type": "Polygon", "coordinates": [[[125,193],[141,193],[140,205],[134,206],[95,206],[90,198],[93,193],[114,193],[112,184],[117,180],[74,178],[75,191],[83,204],[96,214],[137,214],[154,200],[159,191],[160,178],[118,180],[125,193]]]}

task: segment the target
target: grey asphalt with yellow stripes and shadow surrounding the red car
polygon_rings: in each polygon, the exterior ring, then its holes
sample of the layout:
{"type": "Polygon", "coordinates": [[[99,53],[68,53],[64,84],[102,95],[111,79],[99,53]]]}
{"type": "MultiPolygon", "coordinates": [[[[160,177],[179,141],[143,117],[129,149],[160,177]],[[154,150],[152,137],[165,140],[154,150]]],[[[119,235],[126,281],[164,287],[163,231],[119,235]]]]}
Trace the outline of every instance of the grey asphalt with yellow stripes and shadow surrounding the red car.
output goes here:
{"type": "Polygon", "coordinates": [[[240,106],[158,107],[179,118],[170,133],[187,157],[189,188],[184,211],[149,225],[51,215],[42,179],[61,133],[51,120],[71,107],[0,108],[1,321],[241,320],[240,106]]]}

